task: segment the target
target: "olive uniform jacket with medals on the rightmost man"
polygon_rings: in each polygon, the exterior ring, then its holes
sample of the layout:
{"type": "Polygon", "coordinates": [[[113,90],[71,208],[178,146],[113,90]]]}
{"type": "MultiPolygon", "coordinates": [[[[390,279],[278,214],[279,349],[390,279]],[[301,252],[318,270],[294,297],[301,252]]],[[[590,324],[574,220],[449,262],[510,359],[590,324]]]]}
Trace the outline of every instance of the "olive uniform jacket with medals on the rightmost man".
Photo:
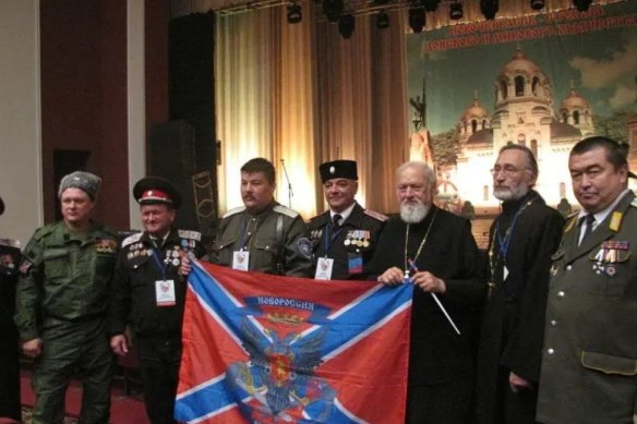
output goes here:
{"type": "Polygon", "coordinates": [[[578,246],[553,255],[537,420],[633,423],[637,411],[637,201],[629,192],[578,246]]]}

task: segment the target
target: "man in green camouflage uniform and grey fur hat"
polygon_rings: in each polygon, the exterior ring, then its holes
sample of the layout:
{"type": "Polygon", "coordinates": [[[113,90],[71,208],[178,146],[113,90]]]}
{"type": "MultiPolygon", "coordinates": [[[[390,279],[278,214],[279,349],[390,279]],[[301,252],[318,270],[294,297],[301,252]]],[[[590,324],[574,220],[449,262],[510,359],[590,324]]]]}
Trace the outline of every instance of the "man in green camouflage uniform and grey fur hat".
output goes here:
{"type": "Polygon", "coordinates": [[[67,387],[77,374],[80,422],[108,422],[113,355],[105,318],[117,233],[91,219],[100,182],[88,172],[64,177],[63,220],[36,230],[24,251],[15,320],[22,350],[35,360],[35,424],[63,422],[67,387]]]}

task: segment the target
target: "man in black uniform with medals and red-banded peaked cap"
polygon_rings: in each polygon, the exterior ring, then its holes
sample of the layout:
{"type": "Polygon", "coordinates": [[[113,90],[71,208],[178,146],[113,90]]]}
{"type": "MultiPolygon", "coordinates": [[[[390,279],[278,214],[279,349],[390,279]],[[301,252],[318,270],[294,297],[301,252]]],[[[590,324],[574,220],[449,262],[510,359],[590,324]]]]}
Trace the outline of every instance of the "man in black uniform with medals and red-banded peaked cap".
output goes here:
{"type": "Polygon", "coordinates": [[[125,356],[128,324],[140,348],[146,413],[153,424],[176,423],[175,396],[181,362],[184,255],[200,257],[201,233],[172,227],[181,196],[167,180],[147,177],[133,187],[144,232],[122,241],[109,306],[110,346],[125,356]],[[129,323],[130,319],[130,323],[129,323]]]}

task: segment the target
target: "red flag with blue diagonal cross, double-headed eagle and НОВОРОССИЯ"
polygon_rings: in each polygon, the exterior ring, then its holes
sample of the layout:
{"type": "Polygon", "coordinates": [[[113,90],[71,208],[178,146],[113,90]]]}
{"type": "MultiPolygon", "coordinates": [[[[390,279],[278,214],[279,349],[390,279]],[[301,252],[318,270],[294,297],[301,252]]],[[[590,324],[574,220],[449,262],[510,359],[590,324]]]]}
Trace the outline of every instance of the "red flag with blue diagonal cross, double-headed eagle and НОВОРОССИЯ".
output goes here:
{"type": "Polygon", "coordinates": [[[195,262],[176,419],[404,423],[412,290],[195,262]]]}

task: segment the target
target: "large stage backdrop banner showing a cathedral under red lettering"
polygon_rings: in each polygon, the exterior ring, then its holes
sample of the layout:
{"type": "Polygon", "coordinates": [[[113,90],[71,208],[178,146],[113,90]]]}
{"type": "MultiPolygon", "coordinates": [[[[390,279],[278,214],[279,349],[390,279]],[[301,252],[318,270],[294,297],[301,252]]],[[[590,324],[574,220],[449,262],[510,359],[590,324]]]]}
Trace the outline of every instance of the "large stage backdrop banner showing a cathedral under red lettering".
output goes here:
{"type": "Polygon", "coordinates": [[[529,7],[513,19],[408,35],[407,51],[410,156],[435,166],[449,209],[498,205],[489,170],[508,143],[536,153],[537,189],[566,210],[575,206],[568,153],[579,140],[627,143],[637,167],[637,1],[587,12],[529,7]]]}

